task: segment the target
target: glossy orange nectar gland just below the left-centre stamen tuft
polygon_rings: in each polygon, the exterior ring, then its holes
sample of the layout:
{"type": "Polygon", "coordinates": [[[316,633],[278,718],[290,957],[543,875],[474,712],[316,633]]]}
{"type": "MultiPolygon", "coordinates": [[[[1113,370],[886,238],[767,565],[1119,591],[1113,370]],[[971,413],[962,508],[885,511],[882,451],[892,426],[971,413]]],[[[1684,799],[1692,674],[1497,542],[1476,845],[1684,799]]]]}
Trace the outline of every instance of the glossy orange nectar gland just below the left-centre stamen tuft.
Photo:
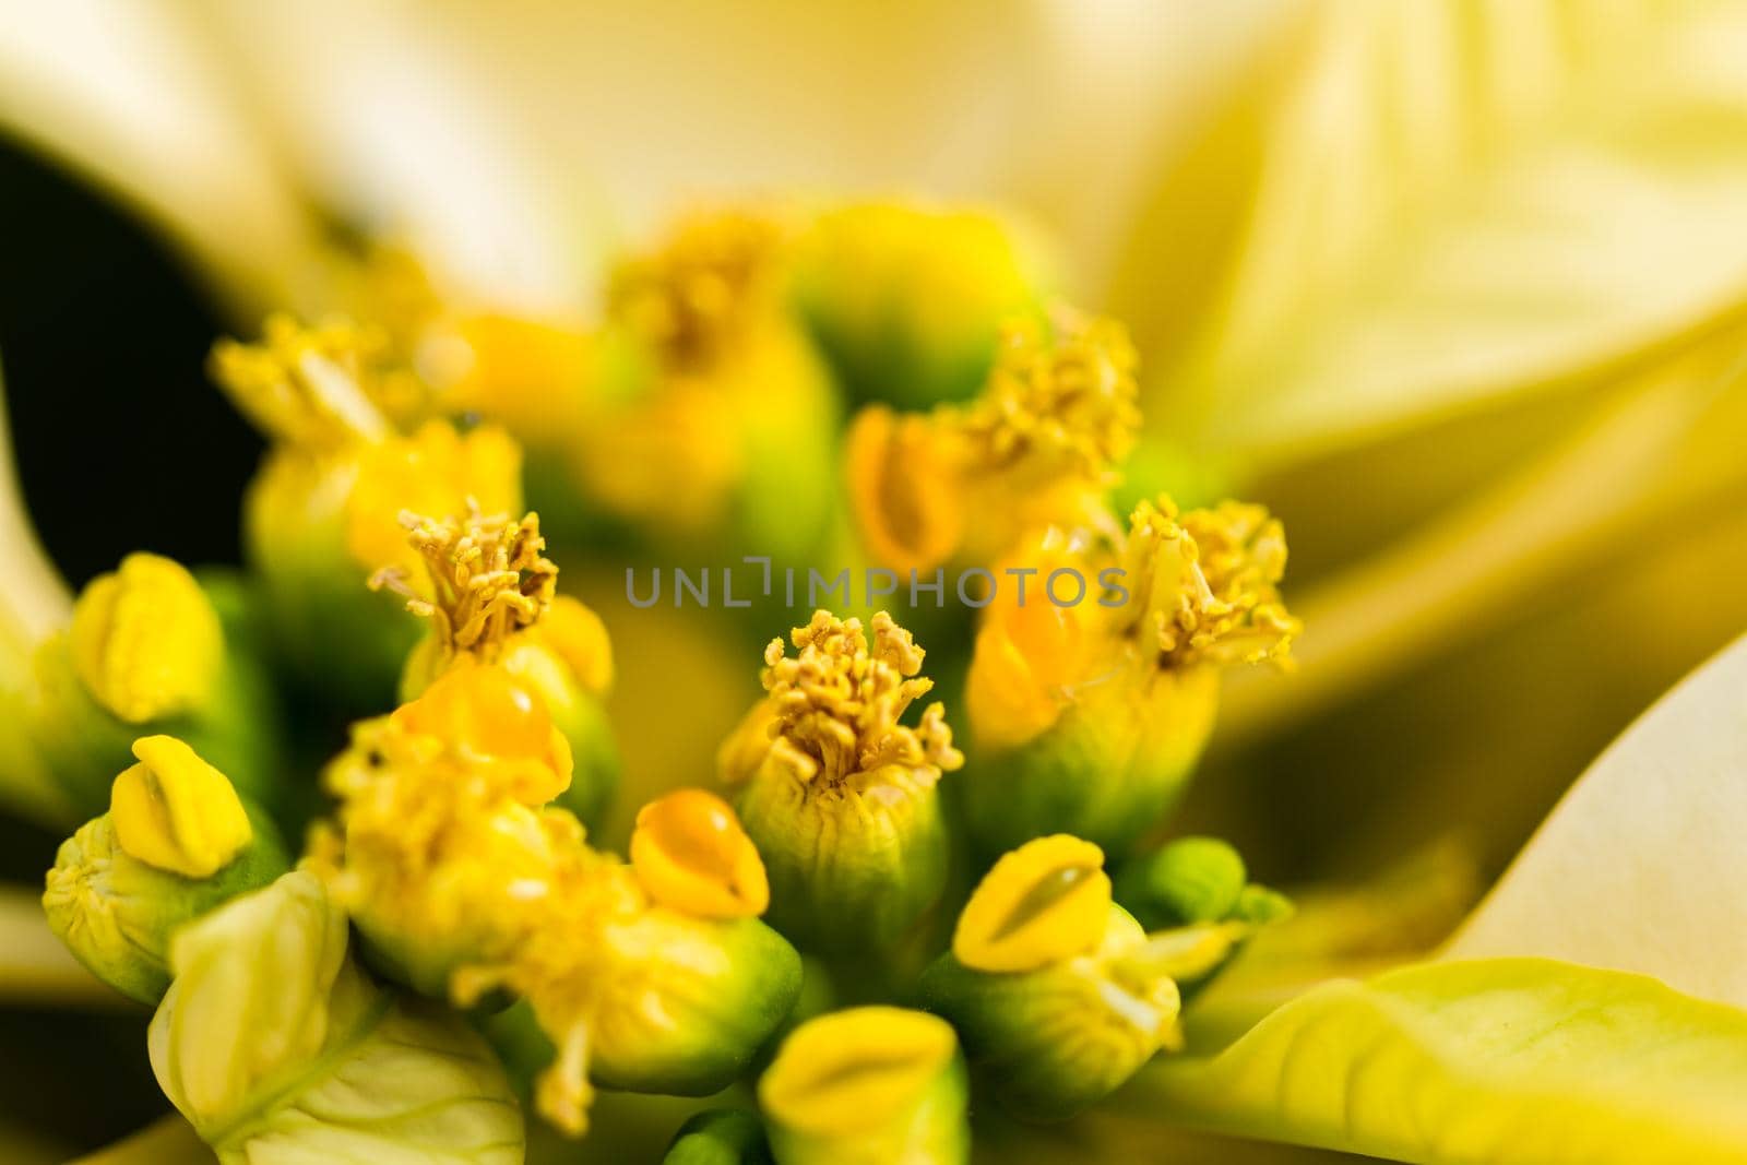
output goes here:
{"type": "Polygon", "coordinates": [[[570,742],[545,700],[501,667],[463,664],[444,672],[425,695],[402,704],[393,723],[473,760],[508,765],[510,793],[526,805],[543,805],[570,788],[570,742]]]}

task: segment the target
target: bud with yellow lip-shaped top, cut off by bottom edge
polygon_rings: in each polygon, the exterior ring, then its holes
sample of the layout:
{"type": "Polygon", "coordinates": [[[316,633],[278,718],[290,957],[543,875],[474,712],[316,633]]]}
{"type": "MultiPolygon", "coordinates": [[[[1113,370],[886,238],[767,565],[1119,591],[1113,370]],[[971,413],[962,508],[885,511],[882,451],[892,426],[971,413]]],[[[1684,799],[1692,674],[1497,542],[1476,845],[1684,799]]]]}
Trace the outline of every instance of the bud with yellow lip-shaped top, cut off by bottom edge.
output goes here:
{"type": "Polygon", "coordinates": [[[758,1079],[777,1165],[957,1165],[968,1100],[952,1027],[903,1008],[809,1020],[758,1079]]]}

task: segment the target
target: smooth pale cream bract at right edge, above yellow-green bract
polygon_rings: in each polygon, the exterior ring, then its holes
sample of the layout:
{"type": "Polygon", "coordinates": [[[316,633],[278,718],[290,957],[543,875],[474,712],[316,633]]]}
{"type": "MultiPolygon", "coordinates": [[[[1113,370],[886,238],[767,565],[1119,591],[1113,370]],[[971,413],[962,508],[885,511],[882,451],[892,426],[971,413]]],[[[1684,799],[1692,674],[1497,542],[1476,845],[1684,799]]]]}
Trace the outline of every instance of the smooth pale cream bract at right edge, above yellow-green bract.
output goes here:
{"type": "Polygon", "coordinates": [[[1747,639],[1565,795],[1450,945],[1654,975],[1747,1008],[1747,639]]]}

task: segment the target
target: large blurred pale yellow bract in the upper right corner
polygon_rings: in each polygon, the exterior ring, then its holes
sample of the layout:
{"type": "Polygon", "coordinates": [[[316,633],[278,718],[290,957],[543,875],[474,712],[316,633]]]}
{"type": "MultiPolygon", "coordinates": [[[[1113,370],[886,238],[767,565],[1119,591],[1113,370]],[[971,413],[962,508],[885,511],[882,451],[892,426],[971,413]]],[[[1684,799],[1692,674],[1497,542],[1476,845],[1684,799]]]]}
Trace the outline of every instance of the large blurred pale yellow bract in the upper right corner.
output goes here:
{"type": "Polygon", "coordinates": [[[1326,452],[1642,362],[1747,297],[1747,7],[1300,17],[1118,279],[1174,438],[1326,452]]]}

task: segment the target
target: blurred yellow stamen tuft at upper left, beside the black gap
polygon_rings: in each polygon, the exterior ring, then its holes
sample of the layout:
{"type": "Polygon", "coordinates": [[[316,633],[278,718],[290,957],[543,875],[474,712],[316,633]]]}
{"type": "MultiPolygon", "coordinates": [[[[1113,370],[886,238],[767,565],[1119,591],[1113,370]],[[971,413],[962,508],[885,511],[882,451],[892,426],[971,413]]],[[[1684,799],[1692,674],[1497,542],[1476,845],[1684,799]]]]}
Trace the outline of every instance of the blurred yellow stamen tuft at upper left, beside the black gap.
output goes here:
{"type": "Polygon", "coordinates": [[[259,344],[218,341],[211,374],[257,428],[304,447],[383,440],[381,405],[416,391],[386,332],[288,314],[269,316],[259,344]]]}

